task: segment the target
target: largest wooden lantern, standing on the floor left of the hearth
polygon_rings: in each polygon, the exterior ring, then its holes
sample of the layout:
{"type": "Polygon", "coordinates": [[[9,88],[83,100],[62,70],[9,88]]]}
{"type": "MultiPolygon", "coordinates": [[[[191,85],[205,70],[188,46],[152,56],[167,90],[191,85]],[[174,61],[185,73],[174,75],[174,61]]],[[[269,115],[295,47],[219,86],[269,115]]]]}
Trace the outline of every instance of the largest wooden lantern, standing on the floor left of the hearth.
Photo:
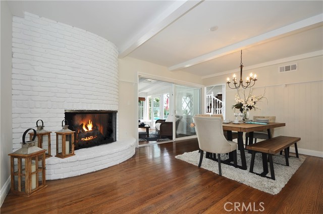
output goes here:
{"type": "Polygon", "coordinates": [[[11,156],[11,191],[13,194],[29,197],[46,187],[45,152],[35,146],[36,130],[27,129],[22,136],[22,148],[11,156]],[[31,141],[25,142],[26,134],[33,130],[31,141]]]}

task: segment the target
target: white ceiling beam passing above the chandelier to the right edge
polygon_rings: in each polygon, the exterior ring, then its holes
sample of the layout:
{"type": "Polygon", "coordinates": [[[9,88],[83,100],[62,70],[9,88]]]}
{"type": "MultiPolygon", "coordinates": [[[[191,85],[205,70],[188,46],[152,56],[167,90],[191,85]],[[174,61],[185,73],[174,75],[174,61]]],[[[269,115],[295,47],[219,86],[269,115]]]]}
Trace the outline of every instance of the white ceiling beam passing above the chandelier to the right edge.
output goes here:
{"type": "Polygon", "coordinates": [[[299,30],[301,28],[305,28],[305,27],[308,27],[308,26],[311,26],[311,25],[314,25],[317,23],[321,23],[321,22],[323,22],[322,17],[323,17],[323,14],[319,14],[319,15],[310,17],[308,19],[304,19],[302,21],[278,28],[276,30],[273,30],[273,31],[270,31],[270,32],[246,39],[246,40],[243,40],[241,42],[226,46],[224,48],[220,48],[218,50],[198,56],[196,58],[187,60],[185,62],[181,62],[179,64],[170,66],[170,67],[168,67],[168,69],[170,71],[180,70],[180,69],[190,67],[190,66],[193,66],[193,65],[211,60],[211,59],[215,59],[215,58],[218,58],[218,57],[221,57],[224,55],[231,54],[231,53],[236,52],[240,49],[244,49],[248,46],[259,44],[259,42],[263,42],[264,40],[273,39],[274,37],[282,36],[284,34],[291,33],[292,31],[299,30]]]}

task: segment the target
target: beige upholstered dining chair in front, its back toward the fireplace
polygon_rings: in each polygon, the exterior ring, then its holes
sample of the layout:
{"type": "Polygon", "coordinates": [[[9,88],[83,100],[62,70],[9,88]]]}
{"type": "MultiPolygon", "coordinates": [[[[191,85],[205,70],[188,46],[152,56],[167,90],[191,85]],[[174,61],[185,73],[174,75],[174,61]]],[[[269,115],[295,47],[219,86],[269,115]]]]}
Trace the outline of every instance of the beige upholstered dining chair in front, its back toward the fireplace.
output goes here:
{"type": "Polygon", "coordinates": [[[200,148],[200,161],[198,167],[201,167],[203,151],[218,154],[219,175],[221,172],[221,154],[233,152],[234,166],[237,167],[237,143],[227,140],[223,134],[221,117],[193,117],[195,130],[200,148]]]}

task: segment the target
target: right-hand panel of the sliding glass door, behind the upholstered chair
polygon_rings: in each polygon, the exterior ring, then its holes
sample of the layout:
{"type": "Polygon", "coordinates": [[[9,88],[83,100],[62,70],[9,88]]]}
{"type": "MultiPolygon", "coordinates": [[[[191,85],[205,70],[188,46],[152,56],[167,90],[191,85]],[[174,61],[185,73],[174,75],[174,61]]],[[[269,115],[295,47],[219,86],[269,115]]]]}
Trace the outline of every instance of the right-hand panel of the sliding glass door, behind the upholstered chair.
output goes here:
{"type": "Polygon", "coordinates": [[[176,138],[195,135],[194,114],[200,113],[200,89],[175,85],[176,138]]]}

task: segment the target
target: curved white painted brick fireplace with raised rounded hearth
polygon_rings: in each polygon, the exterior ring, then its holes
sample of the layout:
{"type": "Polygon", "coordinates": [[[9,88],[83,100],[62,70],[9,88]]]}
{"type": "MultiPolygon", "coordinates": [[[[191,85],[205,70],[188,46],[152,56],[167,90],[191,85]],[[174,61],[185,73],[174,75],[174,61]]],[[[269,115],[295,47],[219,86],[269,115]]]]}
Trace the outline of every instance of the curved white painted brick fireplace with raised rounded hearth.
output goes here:
{"type": "MultiPolygon", "coordinates": [[[[110,41],[88,31],[25,13],[13,17],[13,150],[22,134],[43,120],[51,133],[65,110],[118,110],[118,50],[110,41]]],[[[135,154],[135,139],[81,149],[66,159],[46,159],[46,179],[60,179],[103,169],[135,154]]]]}

